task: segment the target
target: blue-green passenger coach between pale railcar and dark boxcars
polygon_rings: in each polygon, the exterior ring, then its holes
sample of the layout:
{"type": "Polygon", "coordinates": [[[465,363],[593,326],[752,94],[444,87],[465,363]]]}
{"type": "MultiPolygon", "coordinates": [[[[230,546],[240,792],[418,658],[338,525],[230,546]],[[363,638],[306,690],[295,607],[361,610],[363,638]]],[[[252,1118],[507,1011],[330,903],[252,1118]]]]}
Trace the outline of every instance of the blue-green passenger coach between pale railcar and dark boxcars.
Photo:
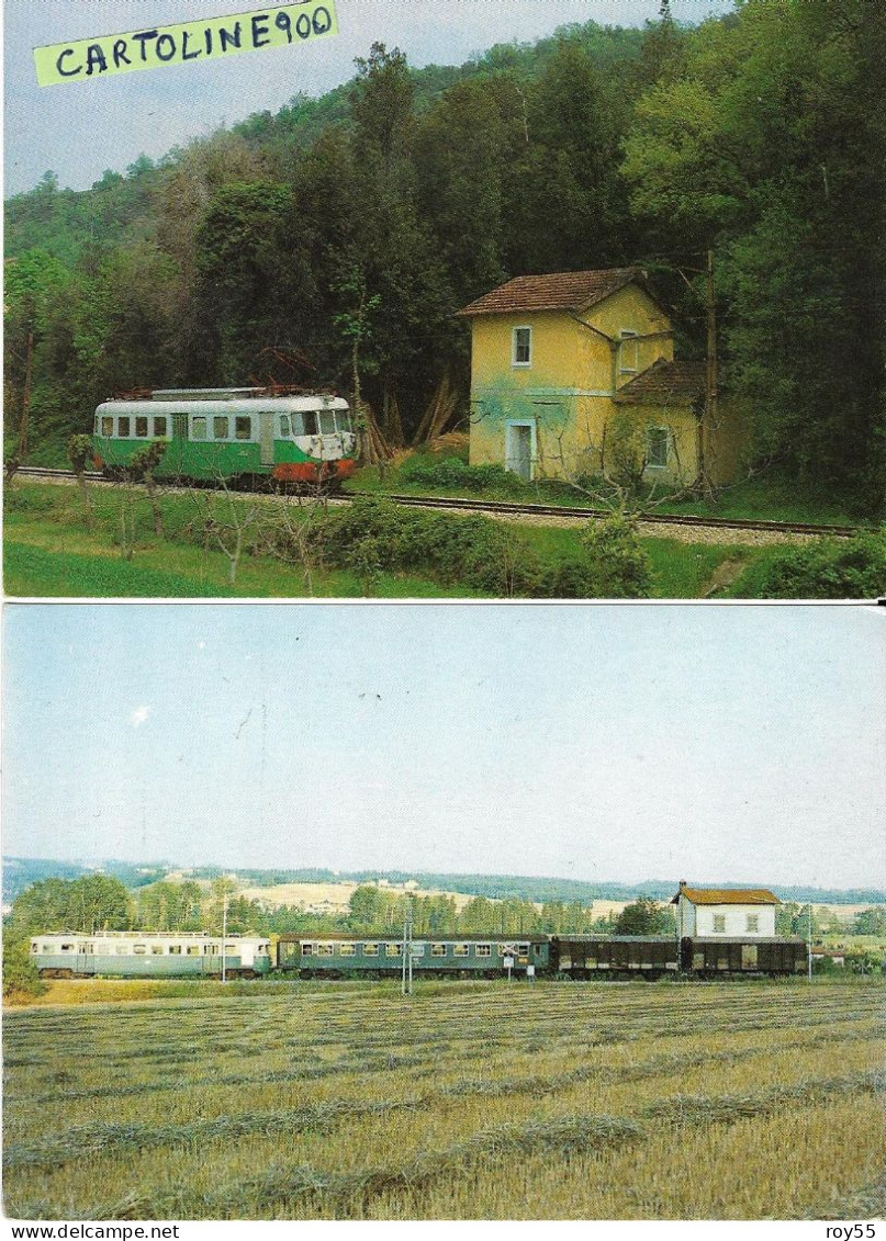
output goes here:
{"type": "MultiPolygon", "coordinates": [[[[498,978],[510,968],[539,974],[550,965],[547,936],[437,938],[411,941],[413,974],[455,978],[498,978]],[[510,962],[510,967],[509,963],[510,962]]],[[[402,973],[403,941],[371,936],[283,934],[277,944],[277,968],[300,978],[385,978],[402,973]]]]}

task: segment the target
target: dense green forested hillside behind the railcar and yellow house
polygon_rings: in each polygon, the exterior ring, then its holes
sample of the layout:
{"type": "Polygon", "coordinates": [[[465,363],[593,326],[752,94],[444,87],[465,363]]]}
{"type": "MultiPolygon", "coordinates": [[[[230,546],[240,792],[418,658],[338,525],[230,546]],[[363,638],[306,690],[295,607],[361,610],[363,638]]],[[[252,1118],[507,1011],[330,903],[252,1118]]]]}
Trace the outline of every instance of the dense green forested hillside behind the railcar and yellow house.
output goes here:
{"type": "Polygon", "coordinates": [[[351,83],[6,204],[6,455],[32,340],[31,455],[133,387],[249,380],[362,393],[408,439],[453,314],[515,274],[639,263],[722,382],[754,463],[876,514],[884,494],[886,16],[748,0],[678,27],[594,22],[460,68],[380,45],[351,83]],[[288,364],[277,355],[284,352],[288,364]],[[398,414],[395,412],[398,410],[398,414]]]}

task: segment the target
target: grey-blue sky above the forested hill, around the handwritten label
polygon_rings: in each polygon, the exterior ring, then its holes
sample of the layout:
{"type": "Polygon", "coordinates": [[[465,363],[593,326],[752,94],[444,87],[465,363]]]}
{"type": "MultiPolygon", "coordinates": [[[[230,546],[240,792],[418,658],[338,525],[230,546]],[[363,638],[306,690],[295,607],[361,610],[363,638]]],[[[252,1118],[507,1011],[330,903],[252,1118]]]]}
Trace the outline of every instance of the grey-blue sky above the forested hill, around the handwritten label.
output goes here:
{"type": "MultiPolygon", "coordinates": [[[[272,113],[304,92],[349,81],[372,42],[400,47],[416,68],[460,65],[494,43],[532,42],[593,19],[643,26],[660,0],[338,0],[339,34],[290,48],[38,87],[32,48],[68,40],[261,11],[254,0],[5,0],[5,196],[52,170],[88,189],[105,169],[125,171],[189,139],[272,113]]],[[[673,0],[681,22],[732,9],[731,0],[673,0]]]]}

